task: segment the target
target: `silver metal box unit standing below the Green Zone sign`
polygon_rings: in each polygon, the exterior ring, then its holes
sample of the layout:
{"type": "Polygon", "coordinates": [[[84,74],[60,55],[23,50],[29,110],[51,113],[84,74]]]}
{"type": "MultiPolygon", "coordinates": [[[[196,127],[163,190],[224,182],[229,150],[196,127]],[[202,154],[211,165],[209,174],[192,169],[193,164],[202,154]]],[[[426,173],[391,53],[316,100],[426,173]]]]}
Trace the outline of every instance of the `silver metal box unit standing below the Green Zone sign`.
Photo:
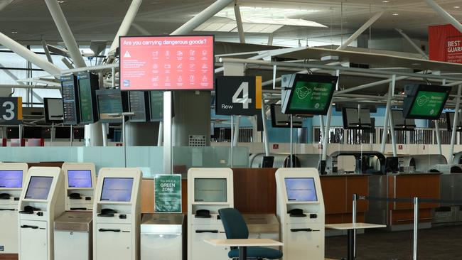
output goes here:
{"type": "Polygon", "coordinates": [[[184,219],[183,214],[144,214],[140,231],[141,260],[186,259],[184,219]]]}

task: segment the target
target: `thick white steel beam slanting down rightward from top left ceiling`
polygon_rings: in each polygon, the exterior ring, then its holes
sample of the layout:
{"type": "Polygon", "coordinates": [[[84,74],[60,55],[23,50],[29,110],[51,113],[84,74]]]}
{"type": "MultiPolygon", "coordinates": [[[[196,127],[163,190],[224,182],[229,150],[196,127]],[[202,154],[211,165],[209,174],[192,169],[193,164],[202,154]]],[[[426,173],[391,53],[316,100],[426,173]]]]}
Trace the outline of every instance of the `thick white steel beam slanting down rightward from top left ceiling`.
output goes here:
{"type": "Polygon", "coordinates": [[[85,60],[82,58],[77,41],[75,41],[72,31],[70,31],[69,23],[66,20],[63,10],[57,0],[45,0],[45,4],[50,10],[53,21],[60,32],[61,38],[63,38],[66,48],[68,48],[70,58],[74,62],[76,67],[87,67],[85,60]]]}

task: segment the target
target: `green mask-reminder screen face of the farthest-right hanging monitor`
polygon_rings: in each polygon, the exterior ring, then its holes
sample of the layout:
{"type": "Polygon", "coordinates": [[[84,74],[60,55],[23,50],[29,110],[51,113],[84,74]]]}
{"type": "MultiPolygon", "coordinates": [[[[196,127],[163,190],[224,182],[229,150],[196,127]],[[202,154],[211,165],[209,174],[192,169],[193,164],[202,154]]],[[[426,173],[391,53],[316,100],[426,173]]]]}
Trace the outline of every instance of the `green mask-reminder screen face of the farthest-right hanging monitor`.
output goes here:
{"type": "Polygon", "coordinates": [[[440,112],[445,100],[446,92],[419,91],[409,115],[412,117],[434,116],[440,112]]]}

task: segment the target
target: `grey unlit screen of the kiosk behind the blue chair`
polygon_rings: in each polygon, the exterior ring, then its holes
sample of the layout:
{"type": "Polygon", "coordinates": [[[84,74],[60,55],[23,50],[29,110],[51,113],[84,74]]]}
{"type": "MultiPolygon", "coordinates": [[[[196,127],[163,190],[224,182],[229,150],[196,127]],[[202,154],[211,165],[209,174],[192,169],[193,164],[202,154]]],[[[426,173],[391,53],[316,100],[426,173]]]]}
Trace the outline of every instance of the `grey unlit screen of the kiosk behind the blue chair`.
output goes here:
{"type": "Polygon", "coordinates": [[[225,178],[195,178],[195,202],[227,202],[227,182],[225,178]]]}

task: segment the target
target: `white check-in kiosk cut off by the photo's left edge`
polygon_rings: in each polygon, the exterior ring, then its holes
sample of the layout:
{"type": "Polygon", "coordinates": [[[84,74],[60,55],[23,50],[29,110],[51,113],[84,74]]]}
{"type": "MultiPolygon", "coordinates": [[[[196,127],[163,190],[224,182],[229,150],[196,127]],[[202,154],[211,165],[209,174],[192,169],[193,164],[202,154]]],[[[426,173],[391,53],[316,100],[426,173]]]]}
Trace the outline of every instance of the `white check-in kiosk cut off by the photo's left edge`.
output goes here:
{"type": "Polygon", "coordinates": [[[0,254],[18,254],[18,203],[27,163],[0,163],[0,254]]]}

